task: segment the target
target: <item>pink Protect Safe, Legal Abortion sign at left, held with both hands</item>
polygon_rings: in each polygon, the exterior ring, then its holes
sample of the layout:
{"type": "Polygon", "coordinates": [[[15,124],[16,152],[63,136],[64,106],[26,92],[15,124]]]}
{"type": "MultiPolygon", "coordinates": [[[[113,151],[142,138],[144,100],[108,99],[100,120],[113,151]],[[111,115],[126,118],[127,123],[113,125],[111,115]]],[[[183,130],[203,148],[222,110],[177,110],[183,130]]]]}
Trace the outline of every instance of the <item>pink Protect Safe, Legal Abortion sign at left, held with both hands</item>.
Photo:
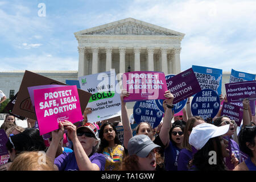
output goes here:
{"type": "Polygon", "coordinates": [[[34,103],[40,135],[59,128],[59,122],[82,120],[76,85],[35,89],[34,103]]]}

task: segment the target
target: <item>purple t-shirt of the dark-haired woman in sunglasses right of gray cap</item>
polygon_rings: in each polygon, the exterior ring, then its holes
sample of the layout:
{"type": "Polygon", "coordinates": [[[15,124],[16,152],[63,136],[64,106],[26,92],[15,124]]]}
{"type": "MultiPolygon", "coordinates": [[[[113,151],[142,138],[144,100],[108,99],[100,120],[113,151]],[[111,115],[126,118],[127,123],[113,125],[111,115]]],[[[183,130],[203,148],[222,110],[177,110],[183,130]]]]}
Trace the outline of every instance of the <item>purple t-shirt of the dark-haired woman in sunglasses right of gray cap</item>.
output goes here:
{"type": "Polygon", "coordinates": [[[177,171],[177,158],[180,148],[170,141],[169,146],[164,150],[164,169],[166,171],[177,171]]]}

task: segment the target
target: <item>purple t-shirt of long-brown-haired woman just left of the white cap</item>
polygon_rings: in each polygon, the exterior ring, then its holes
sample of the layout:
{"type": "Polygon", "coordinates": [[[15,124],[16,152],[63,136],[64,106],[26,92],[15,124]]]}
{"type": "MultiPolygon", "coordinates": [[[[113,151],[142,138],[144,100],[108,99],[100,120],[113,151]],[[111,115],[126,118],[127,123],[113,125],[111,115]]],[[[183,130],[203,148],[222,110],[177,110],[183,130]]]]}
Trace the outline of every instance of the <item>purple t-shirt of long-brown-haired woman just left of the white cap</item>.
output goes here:
{"type": "Polygon", "coordinates": [[[188,171],[188,163],[192,160],[192,158],[192,152],[183,148],[178,155],[177,170],[188,171]]]}

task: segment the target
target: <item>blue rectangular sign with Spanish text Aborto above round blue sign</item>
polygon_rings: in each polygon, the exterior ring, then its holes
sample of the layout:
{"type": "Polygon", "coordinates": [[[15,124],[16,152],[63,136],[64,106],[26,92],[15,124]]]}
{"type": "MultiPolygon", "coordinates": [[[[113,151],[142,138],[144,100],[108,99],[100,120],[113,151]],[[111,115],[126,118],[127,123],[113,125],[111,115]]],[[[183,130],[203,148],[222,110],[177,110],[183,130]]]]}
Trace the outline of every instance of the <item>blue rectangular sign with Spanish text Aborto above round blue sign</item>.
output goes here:
{"type": "Polygon", "coordinates": [[[222,69],[200,67],[192,65],[192,69],[196,75],[197,81],[201,89],[212,89],[221,94],[222,69]]]}

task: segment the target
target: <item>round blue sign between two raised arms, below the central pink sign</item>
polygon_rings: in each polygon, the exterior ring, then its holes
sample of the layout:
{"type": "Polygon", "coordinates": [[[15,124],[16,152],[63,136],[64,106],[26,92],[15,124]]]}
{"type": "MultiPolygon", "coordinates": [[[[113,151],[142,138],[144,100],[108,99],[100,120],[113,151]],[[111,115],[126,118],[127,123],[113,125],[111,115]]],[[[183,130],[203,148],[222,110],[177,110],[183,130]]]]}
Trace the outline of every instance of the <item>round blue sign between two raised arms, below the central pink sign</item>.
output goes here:
{"type": "Polygon", "coordinates": [[[161,122],[163,113],[158,110],[155,100],[137,101],[133,107],[133,117],[137,124],[147,122],[155,128],[161,122]]]}

